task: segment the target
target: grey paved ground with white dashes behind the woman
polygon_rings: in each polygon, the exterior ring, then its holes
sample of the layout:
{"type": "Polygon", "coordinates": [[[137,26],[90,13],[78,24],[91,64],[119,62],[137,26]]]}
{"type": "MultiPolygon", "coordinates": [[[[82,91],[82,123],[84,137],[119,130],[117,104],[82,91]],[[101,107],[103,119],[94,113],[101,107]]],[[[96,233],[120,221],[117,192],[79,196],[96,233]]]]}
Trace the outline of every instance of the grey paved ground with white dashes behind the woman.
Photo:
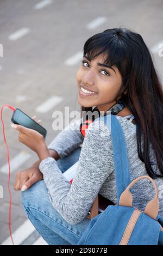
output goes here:
{"type": "MultiPolygon", "coordinates": [[[[76,72],[80,66],[79,57],[84,42],[91,35],[118,26],[134,29],[142,35],[151,49],[163,81],[163,57],[158,55],[158,44],[163,43],[162,0],[46,0],[37,4],[38,2],[39,0],[0,2],[0,43],[3,45],[3,57],[0,57],[0,107],[9,104],[30,116],[36,114],[37,120],[41,119],[42,125],[48,130],[47,144],[58,133],[52,129],[53,111],[63,111],[64,106],[70,106],[70,111],[80,109],[77,102],[76,72]],[[46,102],[52,96],[61,97],[56,106],[46,102]],[[45,113],[37,112],[36,108],[44,102],[45,113]]],[[[15,232],[17,244],[29,245],[39,235],[30,226],[22,210],[20,192],[12,190],[12,186],[16,172],[28,168],[37,157],[18,143],[17,131],[10,128],[11,115],[11,109],[6,108],[3,112],[5,135],[10,160],[15,160],[17,164],[11,164],[12,232],[15,232]],[[16,156],[19,158],[15,159],[16,156]],[[26,234],[21,230],[26,230],[26,234]]],[[[8,167],[4,167],[7,163],[7,149],[2,124],[0,126],[0,185],[4,189],[4,198],[0,199],[2,243],[9,236],[9,193],[6,186],[8,167]]],[[[37,243],[43,241],[37,240],[37,243]]]]}

